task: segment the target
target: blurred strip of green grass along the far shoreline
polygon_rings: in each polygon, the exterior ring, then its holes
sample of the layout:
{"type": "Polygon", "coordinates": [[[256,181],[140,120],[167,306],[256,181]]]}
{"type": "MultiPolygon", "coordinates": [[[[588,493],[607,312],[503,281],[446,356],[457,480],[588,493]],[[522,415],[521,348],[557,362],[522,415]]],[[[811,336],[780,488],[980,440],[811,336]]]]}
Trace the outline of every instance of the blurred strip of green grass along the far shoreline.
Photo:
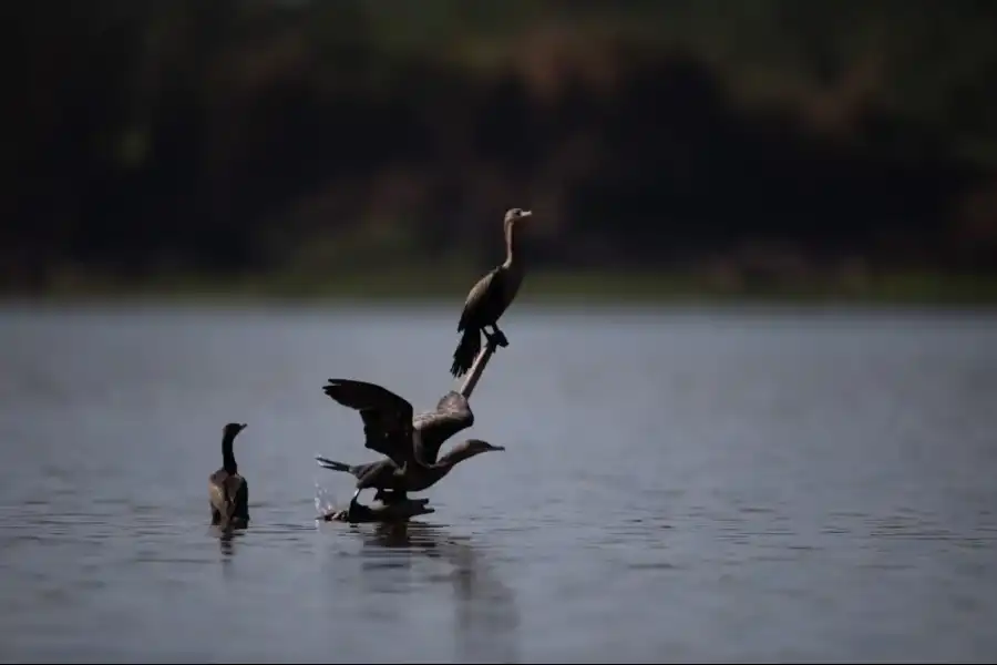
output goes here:
{"type": "MultiPolygon", "coordinates": [[[[486,269],[486,268],[485,268],[486,269]]],[[[463,301],[484,269],[439,266],[389,272],[301,275],[290,272],[243,277],[195,274],[140,279],[53,275],[41,289],[0,291],[10,303],[84,301],[197,303],[463,301]]],[[[610,272],[543,269],[527,276],[518,300],[543,305],[635,305],[685,303],[787,303],[901,306],[995,306],[997,275],[894,270],[811,273],[773,278],[738,272],[610,272]]]]}

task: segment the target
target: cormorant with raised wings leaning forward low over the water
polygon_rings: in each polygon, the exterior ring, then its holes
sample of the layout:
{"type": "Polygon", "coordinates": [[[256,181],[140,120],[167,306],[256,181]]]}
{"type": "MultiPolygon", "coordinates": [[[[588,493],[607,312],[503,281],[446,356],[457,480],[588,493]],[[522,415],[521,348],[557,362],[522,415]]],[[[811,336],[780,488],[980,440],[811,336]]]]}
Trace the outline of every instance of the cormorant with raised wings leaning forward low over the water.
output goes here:
{"type": "Polygon", "coordinates": [[[412,405],[394,392],[367,381],[329,379],[322,391],[338,403],[360,411],[364,447],[387,459],[367,464],[346,464],[316,456],[319,466],[357,478],[349,511],[360,492],[377,489],[376,500],[393,503],[408,492],[421,492],[445,477],[459,463],[483,452],[505,450],[481,439],[467,439],[439,454],[443,442],[471,427],[474,415],[460,392],[450,391],[434,411],[414,416],[412,405]]]}

